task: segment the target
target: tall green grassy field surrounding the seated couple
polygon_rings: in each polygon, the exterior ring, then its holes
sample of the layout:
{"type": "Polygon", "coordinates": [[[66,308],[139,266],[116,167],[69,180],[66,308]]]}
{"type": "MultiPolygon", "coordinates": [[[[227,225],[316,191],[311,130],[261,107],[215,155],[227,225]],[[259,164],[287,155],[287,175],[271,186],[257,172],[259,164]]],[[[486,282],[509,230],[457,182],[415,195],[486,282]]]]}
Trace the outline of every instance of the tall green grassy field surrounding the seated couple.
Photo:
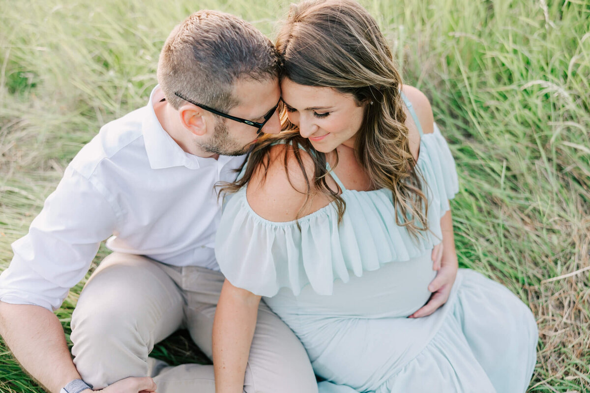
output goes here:
{"type": "MultiPolygon", "coordinates": [[[[221,9],[273,38],[289,3],[271,3],[2,0],[0,271],[80,147],[145,105],[178,21],[221,9]]],[[[461,266],[535,313],[529,391],[590,391],[590,0],[363,4],[450,141],[461,266]]],[[[81,285],[57,312],[67,333],[81,285]]],[[[182,333],[156,352],[171,363],[202,359],[182,333]]],[[[0,392],[41,391],[0,341],[0,392]]]]}

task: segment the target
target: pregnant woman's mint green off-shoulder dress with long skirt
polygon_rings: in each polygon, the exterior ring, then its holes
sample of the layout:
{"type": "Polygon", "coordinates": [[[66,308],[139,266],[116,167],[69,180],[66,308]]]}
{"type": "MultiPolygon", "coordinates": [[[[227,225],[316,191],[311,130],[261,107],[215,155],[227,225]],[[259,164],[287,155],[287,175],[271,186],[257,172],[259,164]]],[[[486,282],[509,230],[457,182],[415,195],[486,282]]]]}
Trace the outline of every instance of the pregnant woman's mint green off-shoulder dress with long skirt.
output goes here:
{"type": "MultiPolygon", "coordinates": [[[[407,100],[406,100],[407,101],[407,100]]],[[[420,133],[418,118],[406,102],[420,133]]],[[[536,362],[537,325],[499,283],[459,269],[447,303],[409,319],[427,302],[432,247],[458,191],[455,164],[435,125],[422,135],[431,232],[415,242],[395,224],[388,190],[342,188],[340,224],[332,204],[295,221],[271,222],[243,187],[226,201],[216,255],[225,277],[257,295],[299,337],[320,393],[526,391],[536,362]]]]}

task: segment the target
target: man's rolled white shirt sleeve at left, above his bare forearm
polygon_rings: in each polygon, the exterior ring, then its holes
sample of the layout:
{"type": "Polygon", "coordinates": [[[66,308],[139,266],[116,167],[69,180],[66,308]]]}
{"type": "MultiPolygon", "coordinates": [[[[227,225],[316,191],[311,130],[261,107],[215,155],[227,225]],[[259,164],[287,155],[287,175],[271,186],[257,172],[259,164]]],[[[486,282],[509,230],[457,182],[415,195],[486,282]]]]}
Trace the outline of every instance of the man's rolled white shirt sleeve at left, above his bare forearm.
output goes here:
{"type": "Polygon", "coordinates": [[[12,243],[14,257],[0,275],[2,302],[61,306],[115,230],[117,214],[104,192],[68,166],[28,234],[12,243]]]}

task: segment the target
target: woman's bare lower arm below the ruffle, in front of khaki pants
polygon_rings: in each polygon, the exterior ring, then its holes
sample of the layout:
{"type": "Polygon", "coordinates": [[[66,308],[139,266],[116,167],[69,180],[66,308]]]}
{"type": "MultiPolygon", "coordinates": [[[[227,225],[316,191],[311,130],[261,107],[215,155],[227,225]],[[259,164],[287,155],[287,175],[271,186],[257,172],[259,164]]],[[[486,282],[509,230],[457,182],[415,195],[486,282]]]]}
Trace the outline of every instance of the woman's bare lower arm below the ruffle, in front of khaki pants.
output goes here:
{"type": "Polygon", "coordinates": [[[216,393],[242,393],[260,296],[225,280],[213,322],[216,393]]]}

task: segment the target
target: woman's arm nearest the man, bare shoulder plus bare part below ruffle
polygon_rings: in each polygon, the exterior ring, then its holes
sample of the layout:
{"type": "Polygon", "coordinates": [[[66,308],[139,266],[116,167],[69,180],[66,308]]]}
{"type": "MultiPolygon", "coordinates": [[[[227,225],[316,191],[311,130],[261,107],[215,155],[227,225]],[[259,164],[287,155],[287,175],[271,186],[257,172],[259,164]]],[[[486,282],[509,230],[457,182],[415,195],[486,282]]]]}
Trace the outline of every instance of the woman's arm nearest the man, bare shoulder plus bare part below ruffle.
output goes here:
{"type": "MultiPolygon", "coordinates": [[[[301,160],[307,177],[313,179],[312,157],[302,153],[301,160]]],[[[268,167],[266,169],[260,167],[255,171],[247,187],[247,202],[252,210],[258,216],[273,222],[289,222],[297,219],[297,214],[300,213],[299,210],[307,196],[304,173],[291,148],[284,144],[270,148],[268,167]],[[289,177],[286,172],[289,173],[289,177]]],[[[314,195],[313,203],[307,207],[309,210],[303,210],[301,214],[310,214],[329,202],[327,197],[314,195]]],[[[271,250],[261,252],[270,253],[271,250]]],[[[234,258],[235,256],[225,257],[234,258]]],[[[223,265],[220,260],[218,262],[220,266],[223,265]]],[[[221,270],[224,271],[224,266],[221,266],[221,270]]],[[[227,272],[227,276],[230,277],[230,272],[227,272]]],[[[238,284],[238,282],[235,283],[238,284]]],[[[244,373],[250,354],[260,298],[225,280],[213,323],[213,365],[217,393],[241,393],[244,389],[244,373]]]]}

